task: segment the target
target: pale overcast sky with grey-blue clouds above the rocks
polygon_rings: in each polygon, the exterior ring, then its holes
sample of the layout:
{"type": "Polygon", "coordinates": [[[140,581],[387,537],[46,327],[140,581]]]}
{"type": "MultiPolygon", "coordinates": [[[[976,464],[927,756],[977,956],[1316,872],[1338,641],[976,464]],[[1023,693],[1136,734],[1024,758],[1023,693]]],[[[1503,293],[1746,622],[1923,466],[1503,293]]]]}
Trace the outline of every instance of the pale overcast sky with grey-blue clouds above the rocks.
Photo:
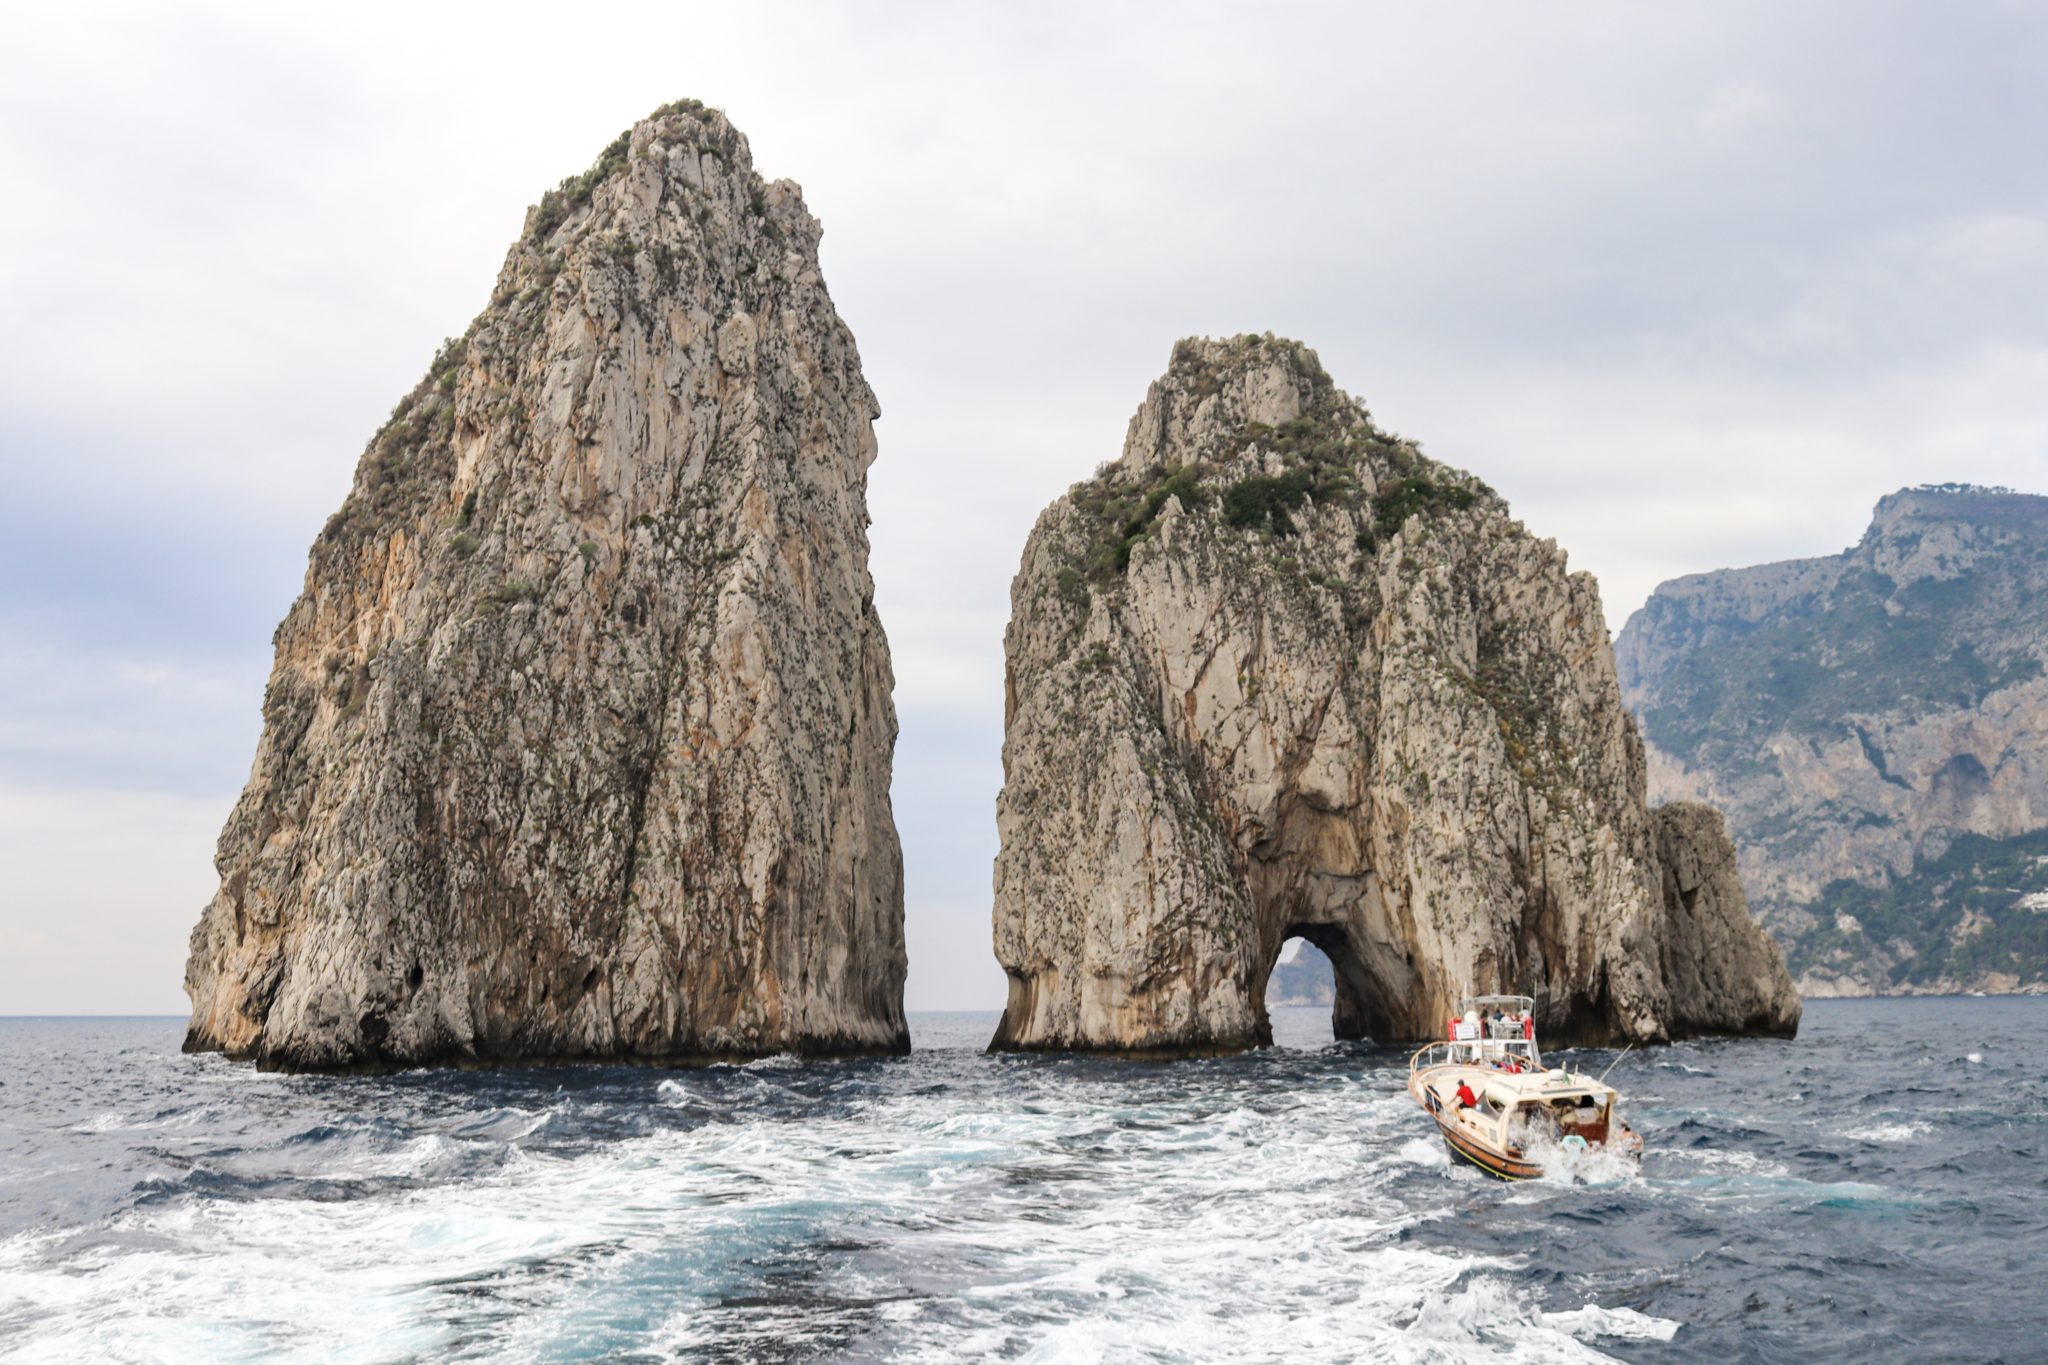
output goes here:
{"type": "Polygon", "coordinates": [[[0,1015],[182,1013],[270,630],[524,207],[662,102],[881,395],[911,1009],[995,1009],[1001,630],[1176,338],[1315,346],[1591,569],[2048,491],[2048,6],[6,6],[0,1015]]]}

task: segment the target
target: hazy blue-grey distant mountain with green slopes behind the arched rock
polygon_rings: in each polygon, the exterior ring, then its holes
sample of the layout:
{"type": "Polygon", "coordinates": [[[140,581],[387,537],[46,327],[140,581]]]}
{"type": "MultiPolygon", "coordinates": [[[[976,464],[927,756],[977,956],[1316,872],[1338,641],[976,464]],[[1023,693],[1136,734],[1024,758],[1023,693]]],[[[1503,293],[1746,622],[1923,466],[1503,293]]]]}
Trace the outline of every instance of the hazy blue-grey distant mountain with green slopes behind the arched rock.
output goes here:
{"type": "Polygon", "coordinates": [[[1653,800],[1720,806],[1806,995],[2048,988],[2048,497],[1884,497],[1614,643],[1653,800]]]}

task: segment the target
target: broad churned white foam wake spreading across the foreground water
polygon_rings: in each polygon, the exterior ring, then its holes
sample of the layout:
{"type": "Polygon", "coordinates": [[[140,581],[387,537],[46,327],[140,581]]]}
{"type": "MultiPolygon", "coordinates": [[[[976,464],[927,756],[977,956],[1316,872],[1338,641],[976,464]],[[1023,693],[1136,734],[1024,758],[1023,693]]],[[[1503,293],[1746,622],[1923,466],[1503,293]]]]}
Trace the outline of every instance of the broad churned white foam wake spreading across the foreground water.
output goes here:
{"type": "Polygon", "coordinates": [[[1384,1076],[1247,1097],[1059,1070],[807,1105],[778,1070],[664,1078],[651,1103],[717,1119],[584,1150],[537,1140],[575,1097],[264,1150],[362,1193],[172,1195],[84,1252],[0,1242],[0,1332],[47,1361],[1585,1361],[1640,1326],[1544,1314],[1516,1254],[1405,1242],[1497,1195],[1413,1197],[1450,1156],[1384,1076]]]}

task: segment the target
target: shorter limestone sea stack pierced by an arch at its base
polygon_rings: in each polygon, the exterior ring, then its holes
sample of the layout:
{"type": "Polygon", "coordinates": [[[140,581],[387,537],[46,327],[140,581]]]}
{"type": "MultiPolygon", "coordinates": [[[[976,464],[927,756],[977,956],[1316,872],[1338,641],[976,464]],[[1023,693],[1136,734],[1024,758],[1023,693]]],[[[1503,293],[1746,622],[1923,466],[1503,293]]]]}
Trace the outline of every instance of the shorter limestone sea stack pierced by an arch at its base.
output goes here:
{"type": "Polygon", "coordinates": [[[1292,342],[1176,346],[1038,518],[1006,649],[999,1048],[1268,1042],[1292,935],[1339,1036],[1436,1036],[1466,988],[1550,1040],[1796,1023],[1776,964],[1761,1005],[1673,974],[1772,950],[1731,851],[1673,919],[1593,581],[1292,342]]]}

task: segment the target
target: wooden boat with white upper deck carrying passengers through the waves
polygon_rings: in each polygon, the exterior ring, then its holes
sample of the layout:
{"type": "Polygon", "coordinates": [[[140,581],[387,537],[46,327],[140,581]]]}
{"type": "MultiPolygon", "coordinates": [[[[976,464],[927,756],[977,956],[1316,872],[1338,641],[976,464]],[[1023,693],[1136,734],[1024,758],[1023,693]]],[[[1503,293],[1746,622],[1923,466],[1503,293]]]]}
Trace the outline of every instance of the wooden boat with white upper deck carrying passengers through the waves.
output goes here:
{"type": "Polygon", "coordinates": [[[1450,1154],[1503,1181],[1540,1177],[1554,1152],[1599,1148],[1640,1160],[1642,1136],[1614,1111],[1614,1087],[1544,1066],[1534,1011],[1526,995],[1473,997],[1448,1040],[1409,1058],[1409,1095],[1450,1154]]]}

